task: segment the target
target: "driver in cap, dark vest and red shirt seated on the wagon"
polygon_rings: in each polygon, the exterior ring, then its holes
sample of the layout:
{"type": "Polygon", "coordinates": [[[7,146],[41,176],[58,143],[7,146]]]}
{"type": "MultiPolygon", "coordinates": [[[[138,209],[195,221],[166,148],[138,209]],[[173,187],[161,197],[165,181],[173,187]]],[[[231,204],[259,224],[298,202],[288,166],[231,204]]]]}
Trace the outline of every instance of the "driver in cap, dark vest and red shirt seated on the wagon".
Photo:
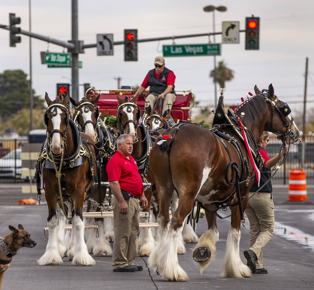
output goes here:
{"type": "MultiPolygon", "coordinates": [[[[155,69],[146,75],[142,85],[136,92],[142,95],[143,91],[149,86],[149,95],[146,97],[146,106],[150,106],[152,111],[156,102],[163,99],[162,117],[170,114],[173,103],[176,101],[175,79],[172,70],[165,67],[165,59],[159,55],[155,57],[155,69]]],[[[135,94],[136,95],[136,94],[135,94]]]]}

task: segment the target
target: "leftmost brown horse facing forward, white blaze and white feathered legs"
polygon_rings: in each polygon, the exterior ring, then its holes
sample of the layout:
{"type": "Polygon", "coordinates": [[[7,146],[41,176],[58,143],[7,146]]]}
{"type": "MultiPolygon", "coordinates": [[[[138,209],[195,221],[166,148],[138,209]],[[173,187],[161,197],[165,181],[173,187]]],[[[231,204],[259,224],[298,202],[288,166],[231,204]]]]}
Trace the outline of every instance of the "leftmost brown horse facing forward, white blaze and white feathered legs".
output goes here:
{"type": "Polygon", "coordinates": [[[48,205],[47,225],[49,238],[46,251],[38,260],[39,265],[56,265],[62,263],[65,253],[64,225],[67,210],[63,201],[73,201],[72,232],[69,259],[75,265],[89,266],[95,264],[89,255],[84,241],[83,203],[87,192],[92,189],[96,180],[96,160],[93,146],[85,141],[92,140],[88,135],[79,133],[70,118],[68,103],[70,94],[63,99],[57,97],[51,101],[45,95],[48,109],[44,119],[48,137],[38,158],[39,172],[44,184],[45,198],[48,205]],[[84,138],[84,140],[83,140],[84,138]],[[57,200],[60,199],[58,202],[57,200]],[[56,208],[59,211],[59,228],[56,208]]]}

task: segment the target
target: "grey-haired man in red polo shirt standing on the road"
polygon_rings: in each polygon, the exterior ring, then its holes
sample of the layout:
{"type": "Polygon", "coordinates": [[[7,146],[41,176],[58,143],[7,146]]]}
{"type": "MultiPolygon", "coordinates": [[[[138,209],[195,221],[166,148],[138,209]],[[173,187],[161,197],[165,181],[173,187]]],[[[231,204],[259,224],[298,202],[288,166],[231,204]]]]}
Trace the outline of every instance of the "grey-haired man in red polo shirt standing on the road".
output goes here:
{"type": "Polygon", "coordinates": [[[143,193],[143,182],[138,173],[133,151],[133,138],[122,134],[117,139],[118,149],[107,163],[106,171],[112,190],[113,207],[113,272],[142,271],[142,266],[134,265],[136,239],[139,230],[138,197],[141,208],[147,207],[143,193]]]}

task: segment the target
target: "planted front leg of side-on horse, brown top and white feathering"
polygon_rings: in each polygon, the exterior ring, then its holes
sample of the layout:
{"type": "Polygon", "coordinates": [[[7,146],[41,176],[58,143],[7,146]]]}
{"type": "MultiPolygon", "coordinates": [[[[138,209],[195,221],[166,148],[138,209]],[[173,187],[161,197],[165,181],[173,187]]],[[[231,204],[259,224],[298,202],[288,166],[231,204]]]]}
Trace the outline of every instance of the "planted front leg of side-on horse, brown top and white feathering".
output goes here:
{"type": "MultiPolygon", "coordinates": [[[[243,211],[246,208],[246,199],[242,201],[243,211]]],[[[251,270],[240,259],[239,244],[241,237],[241,220],[239,206],[230,207],[231,226],[228,233],[226,252],[221,264],[221,277],[243,278],[250,277],[251,270]]]]}

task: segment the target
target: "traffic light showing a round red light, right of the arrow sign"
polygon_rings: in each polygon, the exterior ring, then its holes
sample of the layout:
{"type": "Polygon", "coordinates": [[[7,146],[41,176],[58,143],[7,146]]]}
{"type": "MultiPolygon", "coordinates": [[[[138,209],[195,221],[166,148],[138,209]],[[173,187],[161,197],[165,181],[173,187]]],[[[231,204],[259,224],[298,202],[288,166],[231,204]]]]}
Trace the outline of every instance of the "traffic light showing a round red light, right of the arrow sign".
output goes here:
{"type": "Polygon", "coordinates": [[[259,17],[245,18],[245,49],[259,49],[259,17]]]}

